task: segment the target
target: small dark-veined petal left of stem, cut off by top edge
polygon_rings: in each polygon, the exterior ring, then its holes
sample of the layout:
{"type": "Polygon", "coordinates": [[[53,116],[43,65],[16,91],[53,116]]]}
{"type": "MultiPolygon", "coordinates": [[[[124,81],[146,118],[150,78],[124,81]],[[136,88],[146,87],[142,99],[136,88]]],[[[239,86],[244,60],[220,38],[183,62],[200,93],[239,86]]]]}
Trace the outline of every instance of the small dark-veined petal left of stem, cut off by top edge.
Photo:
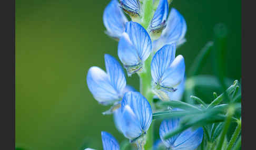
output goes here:
{"type": "Polygon", "coordinates": [[[123,9],[128,12],[136,13],[140,15],[140,2],[139,0],[120,0],[120,4],[123,9]]]}

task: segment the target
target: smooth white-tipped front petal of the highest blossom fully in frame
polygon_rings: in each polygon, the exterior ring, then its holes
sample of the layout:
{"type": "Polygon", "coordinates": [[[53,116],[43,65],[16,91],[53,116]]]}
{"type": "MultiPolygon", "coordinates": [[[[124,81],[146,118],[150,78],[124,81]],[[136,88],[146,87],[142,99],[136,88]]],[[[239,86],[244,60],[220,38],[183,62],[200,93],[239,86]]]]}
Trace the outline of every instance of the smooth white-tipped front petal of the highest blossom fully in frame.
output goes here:
{"type": "Polygon", "coordinates": [[[136,48],[132,45],[129,35],[126,33],[119,40],[117,54],[125,66],[135,66],[141,62],[136,48]]]}

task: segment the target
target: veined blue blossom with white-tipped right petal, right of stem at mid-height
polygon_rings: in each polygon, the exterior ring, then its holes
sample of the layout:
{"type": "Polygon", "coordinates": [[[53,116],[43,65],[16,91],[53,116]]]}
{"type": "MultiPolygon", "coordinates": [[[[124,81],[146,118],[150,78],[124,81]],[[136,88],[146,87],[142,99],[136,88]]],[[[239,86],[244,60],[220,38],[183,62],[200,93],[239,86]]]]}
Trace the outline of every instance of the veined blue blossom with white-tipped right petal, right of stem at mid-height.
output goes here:
{"type": "Polygon", "coordinates": [[[165,45],[151,61],[153,91],[162,100],[169,100],[167,93],[178,90],[184,78],[184,58],[181,55],[175,58],[175,50],[175,44],[165,45]]]}

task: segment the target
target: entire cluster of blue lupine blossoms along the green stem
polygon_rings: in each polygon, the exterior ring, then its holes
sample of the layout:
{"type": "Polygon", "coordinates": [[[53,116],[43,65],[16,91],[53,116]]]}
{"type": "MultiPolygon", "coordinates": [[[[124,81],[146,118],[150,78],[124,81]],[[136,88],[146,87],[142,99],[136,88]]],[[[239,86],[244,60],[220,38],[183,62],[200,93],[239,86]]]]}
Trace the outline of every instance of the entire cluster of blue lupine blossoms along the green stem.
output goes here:
{"type": "MultiPolygon", "coordinates": [[[[141,79],[150,77],[146,85],[141,83],[140,88],[146,92],[137,92],[127,85],[119,61],[108,54],[104,56],[106,72],[91,67],[87,73],[87,85],[93,97],[100,104],[112,105],[109,113],[114,115],[117,130],[140,149],[147,140],[152,112],[156,111],[150,95],[163,101],[179,101],[184,91],[185,62],[183,56],[175,56],[175,52],[176,47],[185,42],[186,23],[175,8],[168,15],[170,3],[167,0],[112,0],[104,10],[105,33],[119,41],[117,54],[127,75],[137,73],[141,79]],[[150,11],[149,6],[152,6],[150,11]],[[146,21],[146,18],[151,19],[146,21]]],[[[159,129],[162,142],[172,149],[195,149],[202,141],[202,128],[190,128],[169,140],[162,138],[178,123],[179,119],[162,122],[159,129]]],[[[120,149],[109,133],[102,132],[102,142],[105,150],[120,149]]]]}

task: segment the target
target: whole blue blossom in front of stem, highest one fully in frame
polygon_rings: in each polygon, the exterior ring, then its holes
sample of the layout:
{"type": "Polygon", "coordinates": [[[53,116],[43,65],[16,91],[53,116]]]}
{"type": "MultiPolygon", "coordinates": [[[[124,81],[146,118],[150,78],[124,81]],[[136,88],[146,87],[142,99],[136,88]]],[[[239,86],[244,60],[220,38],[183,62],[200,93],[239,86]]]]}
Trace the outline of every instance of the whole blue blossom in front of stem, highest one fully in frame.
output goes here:
{"type": "Polygon", "coordinates": [[[118,56],[129,76],[141,70],[151,51],[152,42],[147,31],[138,23],[127,22],[119,40],[118,56]]]}

